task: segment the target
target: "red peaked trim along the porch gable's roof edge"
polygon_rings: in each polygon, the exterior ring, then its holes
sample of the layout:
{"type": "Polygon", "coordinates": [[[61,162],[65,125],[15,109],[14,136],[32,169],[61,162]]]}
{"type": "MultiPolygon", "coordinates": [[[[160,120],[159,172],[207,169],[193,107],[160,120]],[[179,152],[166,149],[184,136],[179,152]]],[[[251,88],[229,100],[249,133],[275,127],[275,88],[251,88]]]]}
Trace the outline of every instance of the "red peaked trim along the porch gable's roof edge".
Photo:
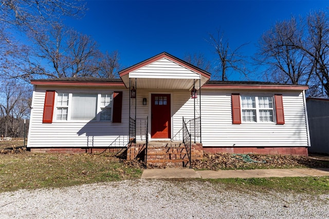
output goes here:
{"type": "Polygon", "coordinates": [[[160,60],[161,58],[168,58],[169,60],[177,63],[178,65],[181,65],[181,66],[184,66],[184,67],[186,67],[188,69],[191,69],[192,71],[195,71],[196,73],[199,73],[202,76],[208,77],[210,79],[210,76],[211,76],[210,73],[208,73],[208,72],[206,72],[206,71],[204,71],[202,69],[199,69],[196,66],[193,66],[193,65],[191,65],[191,64],[189,64],[189,63],[187,63],[185,61],[182,61],[181,59],[179,59],[179,58],[177,58],[177,57],[175,57],[173,55],[170,55],[167,52],[162,52],[162,53],[160,53],[160,54],[158,54],[156,56],[153,56],[153,57],[151,57],[149,59],[146,59],[145,61],[143,61],[141,63],[138,63],[136,65],[133,65],[132,67],[126,68],[126,69],[120,71],[119,72],[119,75],[120,75],[120,77],[122,77],[122,76],[124,76],[126,74],[129,74],[130,72],[135,71],[135,70],[137,70],[137,69],[139,69],[141,67],[144,67],[144,66],[149,65],[149,64],[151,64],[153,62],[156,62],[156,61],[160,60]]]}

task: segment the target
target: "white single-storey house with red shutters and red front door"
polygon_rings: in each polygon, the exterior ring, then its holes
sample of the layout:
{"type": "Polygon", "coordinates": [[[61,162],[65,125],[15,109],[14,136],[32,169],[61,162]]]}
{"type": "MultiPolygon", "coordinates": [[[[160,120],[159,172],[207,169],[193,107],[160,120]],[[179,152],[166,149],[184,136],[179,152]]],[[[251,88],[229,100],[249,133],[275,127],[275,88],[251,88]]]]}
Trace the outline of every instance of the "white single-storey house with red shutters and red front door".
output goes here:
{"type": "Polygon", "coordinates": [[[27,147],[124,149],[182,142],[187,129],[206,152],[307,155],[307,86],[210,81],[208,72],[165,52],[119,75],[31,81],[27,147]]]}

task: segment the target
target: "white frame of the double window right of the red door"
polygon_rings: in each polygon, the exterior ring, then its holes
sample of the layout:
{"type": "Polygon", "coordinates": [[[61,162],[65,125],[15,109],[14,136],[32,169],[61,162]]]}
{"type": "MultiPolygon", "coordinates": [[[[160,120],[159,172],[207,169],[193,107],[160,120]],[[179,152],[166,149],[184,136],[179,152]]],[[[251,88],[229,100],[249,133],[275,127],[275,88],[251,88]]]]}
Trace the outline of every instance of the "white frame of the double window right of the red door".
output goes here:
{"type": "Polygon", "coordinates": [[[242,123],[261,123],[261,124],[276,124],[276,116],[275,116],[275,101],[274,101],[274,96],[273,95],[254,95],[254,94],[242,94],[240,95],[240,107],[241,107],[241,122],[242,123]],[[244,108],[243,107],[243,97],[245,96],[251,96],[254,97],[255,99],[255,107],[253,108],[244,108]],[[272,108],[261,108],[259,106],[259,98],[260,97],[271,97],[272,98],[272,108]],[[245,121],[244,120],[244,110],[255,110],[255,120],[256,121],[245,121]],[[272,121],[265,121],[262,122],[260,120],[260,111],[262,110],[271,110],[272,111],[272,121]]]}

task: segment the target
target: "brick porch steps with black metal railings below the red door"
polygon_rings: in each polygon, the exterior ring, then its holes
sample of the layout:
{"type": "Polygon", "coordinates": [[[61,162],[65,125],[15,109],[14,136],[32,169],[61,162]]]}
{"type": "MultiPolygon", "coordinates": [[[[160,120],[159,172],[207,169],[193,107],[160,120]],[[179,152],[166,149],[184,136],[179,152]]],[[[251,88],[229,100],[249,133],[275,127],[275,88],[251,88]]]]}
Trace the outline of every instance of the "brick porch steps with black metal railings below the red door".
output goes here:
{"type": "Polygon", "coordinates": [[[139,158],[145,163],[145,167],[192,168],[192,160],[203,158],[203,146],[200,143],[200,117],[189,121],[185,121],[183,117],[182,128],[168,141],[149,141],[148,124],[148,117],[136,121],[130,118],[130,143],[127,146],[127,160],[139,158]],[[174,138],[177,138],[178,141],[175,141],[174,138]]]}

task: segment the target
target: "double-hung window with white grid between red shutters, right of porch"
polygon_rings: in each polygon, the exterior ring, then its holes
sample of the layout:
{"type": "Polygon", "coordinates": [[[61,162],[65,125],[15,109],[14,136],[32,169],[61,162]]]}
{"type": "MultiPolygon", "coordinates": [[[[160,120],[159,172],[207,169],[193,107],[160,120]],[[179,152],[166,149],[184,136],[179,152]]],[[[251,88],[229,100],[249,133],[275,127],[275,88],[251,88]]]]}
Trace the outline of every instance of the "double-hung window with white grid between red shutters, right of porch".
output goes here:
{"type": "Polygon", "coordinates": [[[274,122],[272,96],[241,95],[243,122],[274,122]]]}

